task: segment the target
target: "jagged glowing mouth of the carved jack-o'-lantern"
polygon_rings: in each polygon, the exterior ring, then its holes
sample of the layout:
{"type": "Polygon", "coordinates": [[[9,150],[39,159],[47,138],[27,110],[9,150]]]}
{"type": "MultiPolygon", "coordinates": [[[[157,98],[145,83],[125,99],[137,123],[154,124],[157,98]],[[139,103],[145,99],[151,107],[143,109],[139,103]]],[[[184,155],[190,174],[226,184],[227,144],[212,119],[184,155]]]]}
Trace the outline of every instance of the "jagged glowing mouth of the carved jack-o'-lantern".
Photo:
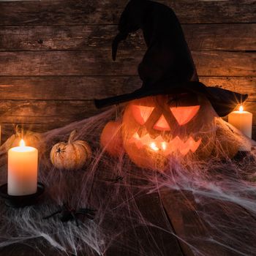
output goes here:
{"type": "Polygon", "coordinates": [[[189,153],[189,151],[195,153],[195,151],[197,151],[197,148],[200,146],[201,140],[202,139],[195,141],[192,136],[189,136],[186,141],[183,141],[181,140],[181,138],[176,136],[169,142],[166,142],[161,135],[153,139],[148,134],[140,137],[138,135],[138,132],[135,132],[135,134],[130,139],[130,143],[135,143],[138,149],[146,146],[147,148],[149,148],[149,150],[156,153],[161,152],[161,154],[164,154],[165,156],[176,153],[177,151],[181,155],[185,156],[189,153]]]}

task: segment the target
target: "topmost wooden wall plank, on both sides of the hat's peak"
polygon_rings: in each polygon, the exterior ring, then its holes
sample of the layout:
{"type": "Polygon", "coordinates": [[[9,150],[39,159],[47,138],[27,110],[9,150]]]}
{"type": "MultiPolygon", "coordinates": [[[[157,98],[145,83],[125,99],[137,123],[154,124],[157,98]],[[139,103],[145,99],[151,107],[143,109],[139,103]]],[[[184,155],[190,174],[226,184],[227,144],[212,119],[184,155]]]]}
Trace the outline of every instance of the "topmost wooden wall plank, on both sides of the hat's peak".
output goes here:
{"type": "MultiPolygon", "coordinates": [[[[255,0],[160,1],[173,7],[181,23],[253,23],[255,0]]],[[[0,24],[116,24],[127,0],[42,0],[0,2],[0,24]]]]}

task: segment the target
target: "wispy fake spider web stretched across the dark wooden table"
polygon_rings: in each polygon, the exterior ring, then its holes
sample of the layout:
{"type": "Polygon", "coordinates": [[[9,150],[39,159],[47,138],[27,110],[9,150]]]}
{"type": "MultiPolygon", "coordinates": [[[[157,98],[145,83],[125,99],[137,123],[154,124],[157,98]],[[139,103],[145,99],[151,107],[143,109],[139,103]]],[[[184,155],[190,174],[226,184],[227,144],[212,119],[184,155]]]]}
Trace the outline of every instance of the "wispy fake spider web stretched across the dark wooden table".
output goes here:
{"type": "MultiPolygon", "coordinates": [[[[50,244],[54,255],[129,252],[158,256],[172,255],[166,248],[170,249],[169,241],[176,238],[184,253],[256,255],[255,151],[236,160],[230,159],[223,147],[225,142],[239,142],[241,146],[248,140],[216,117],[221,132],[213,138],[215,153],[211,157],[187,162],[170,157],[165,172],[159,173],[137,167],[125,152],[118,158],[110,157],[99,145],[105,124],[120,121],[122,114],[112,108],[42,135],[39,181],[46,186],[45,195],[39,204],[22,209],[2,203],[0,247],[25,244],[39,255],[49,255],[50,244]],[[50,163],[50,149],[59,141],[67,141],[74,129],[78,131],[76,139],[91,146],[91,162],[81,170],[57,170],[50,163]],[[140,198],[151,201],[153,219],[146,217],[140,198]],[[58,216],[43,219],[62,203],[95,209],[95,217],[81,217],[79,226],[74,221],[61,222],[58,216]],[[189,224],[191,219],[197,230],[189,224]],[[140,227],[143,232],[138,232],[140,227]],[[157,237],[156,232],[165,236],[157,237]]],[[[6,151],[4,146],[0,149],[4,162],[6,151]]],[[[7,167],[2,166],[1,184],[5,182],[7,167]]]]}

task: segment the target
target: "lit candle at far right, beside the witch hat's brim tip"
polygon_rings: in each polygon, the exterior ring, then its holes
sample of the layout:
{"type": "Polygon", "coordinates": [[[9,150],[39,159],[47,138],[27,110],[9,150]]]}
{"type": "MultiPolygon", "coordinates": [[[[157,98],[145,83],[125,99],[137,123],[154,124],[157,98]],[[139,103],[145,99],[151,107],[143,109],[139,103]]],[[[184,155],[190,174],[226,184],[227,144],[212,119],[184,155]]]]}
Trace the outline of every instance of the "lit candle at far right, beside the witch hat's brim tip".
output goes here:
{"type": "Polygon", "coordinates": [[[233,111],[228,115],[228,122],[252,138],[252,113],[244,111],[243,106],[240,106],[239,111],[233,111]]]}

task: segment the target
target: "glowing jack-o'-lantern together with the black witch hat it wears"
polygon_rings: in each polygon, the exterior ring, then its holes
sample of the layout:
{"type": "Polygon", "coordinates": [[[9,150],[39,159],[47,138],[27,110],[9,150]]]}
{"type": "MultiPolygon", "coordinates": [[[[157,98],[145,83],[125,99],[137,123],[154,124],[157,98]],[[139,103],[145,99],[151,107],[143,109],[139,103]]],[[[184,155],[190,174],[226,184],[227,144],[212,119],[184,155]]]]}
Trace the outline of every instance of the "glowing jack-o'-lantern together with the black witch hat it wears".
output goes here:
{"type": "MultiPolygon", "coordinates": [[[[131,100],[124,110],[121,137],[124,150],[139,167],[165,170],[172,157],[208,157],[215,142],[225,137],[222,130],[217,132],[217,116],[226,116],[248,95],[201,83],[178,18],[154,1],[129,1],[113,40],[113,60],[119,42],[138,29],[147,45],[138,67],[143,86],[129,94],[95,99],[95,105],[103,108],[131,100]]],[[[106,131],[103,137],[111,138],[106,131]]],[[[230,134],[226,145],[220,145],[230,154],[232,138],[230,134]]],[[[106,150],[115,152],[112,146],[108,143],[106,150]]]]}

